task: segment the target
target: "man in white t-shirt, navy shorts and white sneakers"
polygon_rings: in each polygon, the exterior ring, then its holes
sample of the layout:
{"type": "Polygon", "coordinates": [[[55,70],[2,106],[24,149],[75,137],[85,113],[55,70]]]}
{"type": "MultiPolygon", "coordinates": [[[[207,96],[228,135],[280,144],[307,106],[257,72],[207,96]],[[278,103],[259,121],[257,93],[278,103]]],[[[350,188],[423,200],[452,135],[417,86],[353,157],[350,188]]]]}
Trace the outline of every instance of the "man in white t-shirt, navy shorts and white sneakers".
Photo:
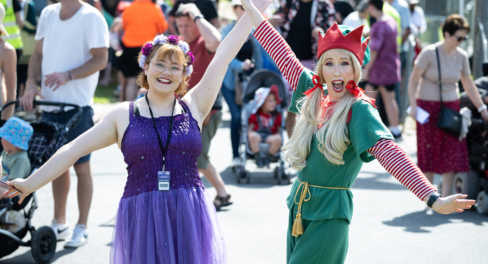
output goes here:
{"type": "MultiPolygon", "coordinates": [[[[30,111],[36,95],[47,101],[82,106],[81,121],[66,133],[68,142],[93,126],[93,95],[99,71],[108,58],[108,27],[100,11],[81,0],[61,0],[46,6],[41,13],[36,33],[36,47],[29,61],[28,77],[20,105],[30,111]],[[41,77],[41,90],[36,81],[41,77]]],[[[42,106],[42,121],[66,124],[76,109],[56,112],[59,107],[42,106]],[[54,112],[53,112],[54,111],[54,112]]],[[[78,176],[80,218],[65,247],[78,247],[88,238],[86,222],[90,209],[93,180],[90,155],[81,157],[74,169],[78,176]]],[[[51,227],[58,240],[70,235],[66,223],[66,198],[69,171],[53,181],[54,220],[51,227]]]]}

